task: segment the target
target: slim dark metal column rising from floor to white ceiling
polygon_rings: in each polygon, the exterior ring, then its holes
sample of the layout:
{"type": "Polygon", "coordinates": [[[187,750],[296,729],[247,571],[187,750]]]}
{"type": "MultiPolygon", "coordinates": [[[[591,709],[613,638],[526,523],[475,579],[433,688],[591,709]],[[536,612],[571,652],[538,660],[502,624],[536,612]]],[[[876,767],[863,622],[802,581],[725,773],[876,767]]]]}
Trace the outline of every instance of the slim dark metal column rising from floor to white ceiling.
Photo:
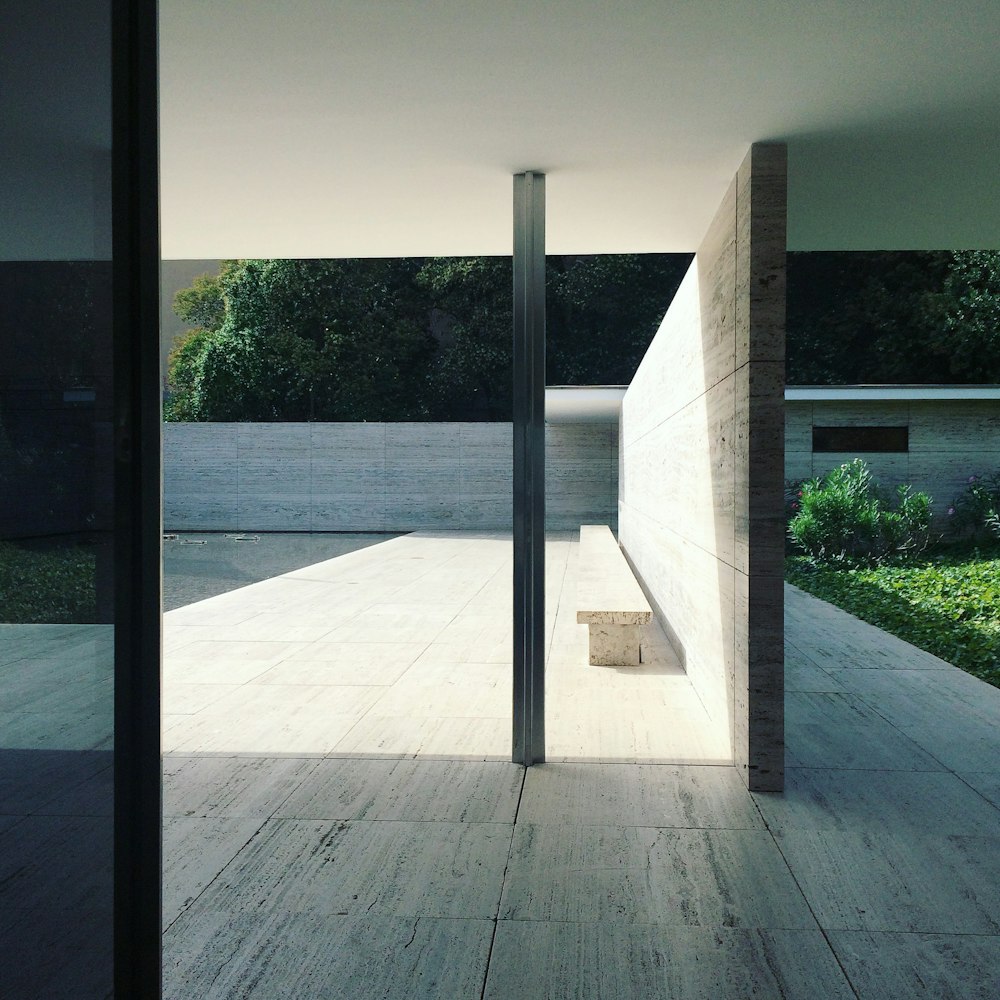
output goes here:
{"type": "Polygon", "coordinates": [[[514,739],[545,759],[545,178],[514,177],[514,739]]]}

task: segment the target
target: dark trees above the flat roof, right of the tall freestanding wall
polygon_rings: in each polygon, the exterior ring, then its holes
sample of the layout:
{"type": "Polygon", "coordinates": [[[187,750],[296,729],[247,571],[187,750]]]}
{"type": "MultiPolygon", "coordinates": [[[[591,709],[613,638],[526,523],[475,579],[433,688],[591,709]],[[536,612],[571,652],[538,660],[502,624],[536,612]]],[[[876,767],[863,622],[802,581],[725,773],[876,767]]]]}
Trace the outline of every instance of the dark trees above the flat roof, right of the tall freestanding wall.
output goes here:
{"type": "Polygon", "coordinates": [[[1000,252],[791,253],[791,385],[1000,382],[1000,252]]]}

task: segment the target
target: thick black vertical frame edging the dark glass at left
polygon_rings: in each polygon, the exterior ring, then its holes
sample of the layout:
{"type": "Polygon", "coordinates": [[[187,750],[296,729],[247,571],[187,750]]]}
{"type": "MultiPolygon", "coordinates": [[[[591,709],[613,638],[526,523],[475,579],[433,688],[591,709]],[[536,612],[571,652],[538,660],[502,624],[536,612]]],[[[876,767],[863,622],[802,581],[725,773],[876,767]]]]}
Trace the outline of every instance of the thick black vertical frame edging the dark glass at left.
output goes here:
{"type": "Polygon", "coordinates": [[[161,958],[159,142],[156,0],[113,0],[115,996],[161,958]]]}

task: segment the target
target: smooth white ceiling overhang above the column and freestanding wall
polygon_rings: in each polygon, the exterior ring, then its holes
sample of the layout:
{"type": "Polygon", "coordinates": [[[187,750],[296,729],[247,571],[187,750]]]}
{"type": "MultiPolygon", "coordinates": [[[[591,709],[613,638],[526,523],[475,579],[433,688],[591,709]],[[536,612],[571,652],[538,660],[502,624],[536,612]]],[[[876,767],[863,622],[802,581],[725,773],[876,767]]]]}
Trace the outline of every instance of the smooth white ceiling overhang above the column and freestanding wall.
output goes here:
{"type": "Polygon", "coordinates": [[[790,249],[1000,245],[996,0],[160,0],[163,255],[691,251],[757,140],[790,249]]]}

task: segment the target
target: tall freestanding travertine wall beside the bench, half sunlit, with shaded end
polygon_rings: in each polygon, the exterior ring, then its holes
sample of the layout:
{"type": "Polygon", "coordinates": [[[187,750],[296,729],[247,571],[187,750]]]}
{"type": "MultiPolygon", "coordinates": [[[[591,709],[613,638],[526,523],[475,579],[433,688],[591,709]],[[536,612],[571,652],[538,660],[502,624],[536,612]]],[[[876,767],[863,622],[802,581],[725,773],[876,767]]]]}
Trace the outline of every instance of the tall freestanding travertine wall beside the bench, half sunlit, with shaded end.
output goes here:
{"type": "Polygon", "coordinates": [[[625,394],[622,548],[748,786],[784,780],[785,150],[755,145],[625,394]]]}

